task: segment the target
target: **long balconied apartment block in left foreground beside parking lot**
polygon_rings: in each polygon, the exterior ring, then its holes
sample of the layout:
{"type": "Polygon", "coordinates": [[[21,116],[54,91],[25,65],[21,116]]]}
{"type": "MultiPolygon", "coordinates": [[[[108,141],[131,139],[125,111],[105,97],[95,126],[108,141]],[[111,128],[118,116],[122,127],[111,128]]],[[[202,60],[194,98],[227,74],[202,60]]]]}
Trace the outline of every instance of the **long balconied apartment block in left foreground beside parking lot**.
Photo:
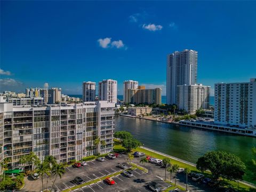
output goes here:
{"type": "Polygon", "coordinates": [[[113,150],[115,104],[107,101],[70,105],[13,106],[0,103],[0,162],[11,166],[30,151],[58,162],[113,150]],[[100,138],[98,146],[93,141],[100,138]],[[103,142],[104,141],[104,142],[103,142]]]}

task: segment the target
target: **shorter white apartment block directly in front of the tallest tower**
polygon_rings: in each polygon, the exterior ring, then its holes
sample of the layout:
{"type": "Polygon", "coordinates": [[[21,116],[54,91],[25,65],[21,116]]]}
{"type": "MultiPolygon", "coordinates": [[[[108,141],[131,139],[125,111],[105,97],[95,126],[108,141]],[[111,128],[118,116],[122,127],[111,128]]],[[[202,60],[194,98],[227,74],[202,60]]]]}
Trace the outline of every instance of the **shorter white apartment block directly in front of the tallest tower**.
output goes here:
{"type": "Polygon", "coordinates": [[[178,85],[177,106],[188,114],[195,114],[198,109],[209,109],[210,86],[202,84],[178,85]]]}

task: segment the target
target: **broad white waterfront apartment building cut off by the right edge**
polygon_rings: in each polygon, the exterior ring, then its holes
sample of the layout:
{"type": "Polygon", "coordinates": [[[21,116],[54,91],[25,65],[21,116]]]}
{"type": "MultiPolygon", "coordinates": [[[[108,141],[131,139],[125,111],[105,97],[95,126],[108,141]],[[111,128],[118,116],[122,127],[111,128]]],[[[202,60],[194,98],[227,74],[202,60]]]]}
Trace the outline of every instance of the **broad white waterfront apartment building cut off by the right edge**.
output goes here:
{"type": "Polygon", "coordinates": [[[246,83],[217,83],[214,123],[256,127],[256,78],[246,83]]]}

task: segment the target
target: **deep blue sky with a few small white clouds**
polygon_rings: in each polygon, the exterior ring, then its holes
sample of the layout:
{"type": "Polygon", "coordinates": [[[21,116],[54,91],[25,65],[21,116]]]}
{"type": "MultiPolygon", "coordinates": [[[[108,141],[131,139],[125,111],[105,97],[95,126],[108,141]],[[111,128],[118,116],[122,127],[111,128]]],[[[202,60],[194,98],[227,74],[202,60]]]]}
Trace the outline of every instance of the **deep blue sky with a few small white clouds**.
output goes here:
{"type": "Polygon", "coordinates": [[[166,55],[198,51],[198,83],[256,77],[256,2],[1,1],[0,91],[133,79],[166,87],[166,55]]]}

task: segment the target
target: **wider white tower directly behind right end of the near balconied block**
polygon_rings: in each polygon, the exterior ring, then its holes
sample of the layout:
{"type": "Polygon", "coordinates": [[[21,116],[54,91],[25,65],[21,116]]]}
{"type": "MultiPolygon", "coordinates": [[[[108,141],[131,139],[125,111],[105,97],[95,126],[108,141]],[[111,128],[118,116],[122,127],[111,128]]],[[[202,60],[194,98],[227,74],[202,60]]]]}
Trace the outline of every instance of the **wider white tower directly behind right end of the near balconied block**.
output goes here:
{"type": "Polygon", "coordinates": [[[107,79],[99,82],[99,100],[117,102],[117,81],[107,79]]]}

